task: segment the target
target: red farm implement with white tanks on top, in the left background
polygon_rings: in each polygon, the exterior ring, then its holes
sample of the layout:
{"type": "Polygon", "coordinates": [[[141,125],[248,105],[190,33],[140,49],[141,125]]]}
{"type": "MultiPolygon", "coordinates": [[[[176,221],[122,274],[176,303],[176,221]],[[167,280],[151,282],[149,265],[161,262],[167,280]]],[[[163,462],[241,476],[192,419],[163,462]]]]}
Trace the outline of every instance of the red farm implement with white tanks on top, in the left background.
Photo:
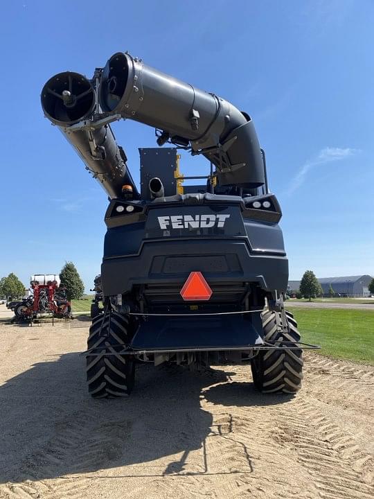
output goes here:
{"type": "Polygon", "coordinates": [[[71,304],[66,299],[64,289],[60,288],[60,277],[56,274],[35,274],[30,277],[33,295],[15,306],[13,322],[26,322],[33,325],[35,319],[55,317],[69,319],[71,304]]]}

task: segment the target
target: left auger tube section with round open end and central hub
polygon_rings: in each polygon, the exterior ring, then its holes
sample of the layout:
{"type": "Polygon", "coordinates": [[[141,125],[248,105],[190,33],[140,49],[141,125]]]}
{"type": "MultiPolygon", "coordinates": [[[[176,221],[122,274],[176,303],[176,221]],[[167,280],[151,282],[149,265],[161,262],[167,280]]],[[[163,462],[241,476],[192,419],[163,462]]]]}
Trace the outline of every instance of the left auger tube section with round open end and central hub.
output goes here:
{"type": "Polygon", "coordinates": [[[79,73],[59,73],[46,82],[41,100],[44,115],[60,128],[109,198],[120,196],[123,184],[132,185],[134,198],[139,198],[127,170],[125,152],[117,145],[110,126],[90,126],[96,108],[92,82],[79,73]],[[84,121],[87,122],[85,128],[74,127],[84,121]]]}

